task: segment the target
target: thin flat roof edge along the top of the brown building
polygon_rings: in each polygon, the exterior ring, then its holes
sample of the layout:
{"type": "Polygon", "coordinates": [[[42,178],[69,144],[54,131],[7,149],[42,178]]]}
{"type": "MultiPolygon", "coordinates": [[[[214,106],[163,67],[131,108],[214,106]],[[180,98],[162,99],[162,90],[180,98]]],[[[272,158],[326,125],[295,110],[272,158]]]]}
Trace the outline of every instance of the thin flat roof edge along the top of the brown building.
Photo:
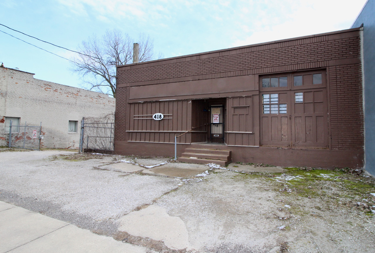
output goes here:
{"type": "Polygon", "coordinates": [[[294,41],[294,40],[298,40],[298,39],[314,38],[314,37],[319,37],[319,36],[324,36],[324,35],[332,35],[332,34],[337,34],[337,33],[353,32],[353,31],[357,31],[357,30],[361,30],[361,27],[339,30],[339,31],[334,31],[334,32],[318,33],[318,34],[314,34],[314,35],[306,35],[306,36],[300,36],[300,37],[289,38],[289,39],[279,39],[279,40],[276,40],[276,41],[268,41],[268,42],[262,42],[262,43],[251,44],[251,45],[244,45],[244,46],[240,46],[240,47],[230,47],[230,48],[219,49],[219,50],[214,50],[214,51],[195,53],[195,54],[191,54],[191,55],[181,55],[181,56],[175,56],[175,57],[170,57],[170,58],[165,58],[165,59],[157,59],[157,60],[147,61],[147,62],[137,62],[137,63],[131,63],[131,64],[125,64],[125,65],[118,65],[116,67],[120,68],[120,67],[125,67],[125,66],[127,67],[127,66],[137,65],[137,64],[146,64],[146,63],[151,63],[151,62],[167,61],[167,60],[185,58],[185,57],[196,56],[196,55],[206,55],[206,54],[210,54],[210,53],[224,52],[224,51],[228,51],[228,50],[236,50],[236,49],[241,49],[241,48],[246,48],[246,47],[257,47],[257,46],[260,46],[260,45],[275,44],[275,43],[280,43],[280,42],[285,42],[285,41],[294,41]]]}

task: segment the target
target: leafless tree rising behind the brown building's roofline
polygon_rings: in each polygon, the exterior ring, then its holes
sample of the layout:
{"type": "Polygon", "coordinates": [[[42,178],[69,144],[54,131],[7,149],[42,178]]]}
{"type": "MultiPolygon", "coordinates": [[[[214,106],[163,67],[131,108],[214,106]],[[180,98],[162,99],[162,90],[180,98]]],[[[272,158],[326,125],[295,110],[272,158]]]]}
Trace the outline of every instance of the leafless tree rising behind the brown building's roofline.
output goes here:
{"type": "MultiPolygon", "coordinates": [[[[124,65],[133,61],[134,39],[120,30],[107,30],[98,38],[96,35],[82,41],[78,51],[84,55],[72,58],[72,71],[82,74],[84,87],[90,90],[113,95],[116,97],[116,65],[124,65]]],[[[150,36],[140,33],[139,62],[162,58],[154,53],[154,43],[150,36]]]]}

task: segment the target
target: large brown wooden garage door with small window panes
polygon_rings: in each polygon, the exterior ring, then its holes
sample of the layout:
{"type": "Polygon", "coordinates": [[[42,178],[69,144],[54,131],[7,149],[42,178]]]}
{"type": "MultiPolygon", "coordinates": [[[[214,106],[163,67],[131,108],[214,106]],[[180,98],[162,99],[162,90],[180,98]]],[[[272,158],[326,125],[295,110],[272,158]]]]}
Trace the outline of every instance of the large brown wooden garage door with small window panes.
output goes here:
{"type": "Polygon", "coordinates": [[[260,77],[260,145],[328,148],[324,70],[260,77]]]}

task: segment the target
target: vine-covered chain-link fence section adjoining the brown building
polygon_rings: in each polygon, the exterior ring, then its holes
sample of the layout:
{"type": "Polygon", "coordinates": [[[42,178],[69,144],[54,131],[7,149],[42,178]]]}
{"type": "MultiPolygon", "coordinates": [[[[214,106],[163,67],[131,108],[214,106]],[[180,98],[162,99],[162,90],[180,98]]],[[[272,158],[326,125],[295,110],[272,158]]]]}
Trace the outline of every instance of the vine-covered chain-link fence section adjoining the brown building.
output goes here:
{"type": "Polygon", "coordinates": [[[114,150],[114,114],[82,118],[80,152],[114,150]]]}

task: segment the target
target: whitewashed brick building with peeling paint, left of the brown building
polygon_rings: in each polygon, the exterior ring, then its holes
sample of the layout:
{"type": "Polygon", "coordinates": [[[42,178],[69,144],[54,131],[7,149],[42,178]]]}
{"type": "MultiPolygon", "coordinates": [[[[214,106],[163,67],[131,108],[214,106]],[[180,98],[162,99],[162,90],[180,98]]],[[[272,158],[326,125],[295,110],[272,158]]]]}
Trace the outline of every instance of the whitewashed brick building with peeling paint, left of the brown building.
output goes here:
{"type": "Polygon", "coordinates": [[[13,125],[19,121],[39,126],[42,122],[41,147],[78,148],[82,117],[115,111],[115,98],[106,94],[34,79],[33,75],[0,67],[0,146],[8,145],[12,120],[13,125]]]}

